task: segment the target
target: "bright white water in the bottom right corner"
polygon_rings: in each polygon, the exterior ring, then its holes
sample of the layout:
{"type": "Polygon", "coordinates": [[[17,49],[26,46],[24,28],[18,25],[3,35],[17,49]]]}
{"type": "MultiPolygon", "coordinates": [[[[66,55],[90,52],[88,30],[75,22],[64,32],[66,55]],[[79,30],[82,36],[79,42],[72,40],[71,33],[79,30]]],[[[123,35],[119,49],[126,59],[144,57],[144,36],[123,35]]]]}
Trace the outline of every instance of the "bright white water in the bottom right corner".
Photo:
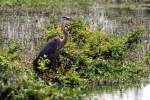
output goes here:
{"type": "Polygon", "coordinates": [[[129,88],[125,91],[104,91],[93,92],[89,97],[84,100],[150,100],[150,84],[143,88],[129,88]]]}

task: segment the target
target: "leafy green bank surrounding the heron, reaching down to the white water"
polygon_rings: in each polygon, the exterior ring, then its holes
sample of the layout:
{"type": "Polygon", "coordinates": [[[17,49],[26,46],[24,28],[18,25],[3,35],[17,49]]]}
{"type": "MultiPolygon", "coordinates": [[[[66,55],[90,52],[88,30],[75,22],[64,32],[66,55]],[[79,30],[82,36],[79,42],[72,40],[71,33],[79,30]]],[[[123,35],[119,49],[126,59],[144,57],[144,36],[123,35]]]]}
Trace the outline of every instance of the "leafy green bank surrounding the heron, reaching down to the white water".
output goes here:
{"type": "MultiPolygon", "coordinates": [[[[89,84],[144,81],[150,74],[145,63],[149,61],[149,54],[137,58],[144,32],[144,28],[137,28],[125,36],[92,32],[77,19],[69,24],[69,40],[61,52],[57,71],[40,66],[41,78],[33,70],[34,57],[27,55],[30,47],[11,42],[0,50],[0,99],[81,98],[89,84]]],[[[60,27],[56,26],[44,36],[44,40],[61,34],[60,27]]],[[[45,62],[41,63],[44,65],[45,62]]]]}

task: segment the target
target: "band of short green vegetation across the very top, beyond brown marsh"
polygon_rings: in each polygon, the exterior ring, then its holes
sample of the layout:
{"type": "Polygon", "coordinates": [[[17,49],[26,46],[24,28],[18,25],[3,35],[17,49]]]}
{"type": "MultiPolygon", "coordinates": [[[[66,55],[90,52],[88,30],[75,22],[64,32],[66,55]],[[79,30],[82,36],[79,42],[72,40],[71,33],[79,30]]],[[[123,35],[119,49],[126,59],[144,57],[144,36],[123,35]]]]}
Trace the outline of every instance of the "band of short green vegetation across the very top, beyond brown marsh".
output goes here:
{"type": "Polygon", "coordinates": [[[128,5],[128,4],[132,4],[131,6],[136,6],[138,5],[139,3],[140,4],[143,4],[142,1],[135,1],[135,0],[131,0],[131,1],[118,1],[118,0],[95,0],[95,1],[92,1],[92,0],[77,0],[77,1],[74,1],[74,0],[64,0],[64,1],[59,1],[59,0],[1,0],[0,3],[3,4],[3,5],[16,5],[16,6],[33,6],[33,7],[37,7],[37,6],[48,6],[49,4],[55,4],[54,6],[58,5],[58,4],[64,4],[64,2],[67,4],[67,3],[71,3],[73,2],[74,4],[76,5],[82,5],[83,7],[86,6],[86,5],[89,5],[91,2],[97,2],[97,3],[104,3],[104,4],[110,4],[110,3],[113,3],[113,4],[124,4],[124,5],[128,5]]]}

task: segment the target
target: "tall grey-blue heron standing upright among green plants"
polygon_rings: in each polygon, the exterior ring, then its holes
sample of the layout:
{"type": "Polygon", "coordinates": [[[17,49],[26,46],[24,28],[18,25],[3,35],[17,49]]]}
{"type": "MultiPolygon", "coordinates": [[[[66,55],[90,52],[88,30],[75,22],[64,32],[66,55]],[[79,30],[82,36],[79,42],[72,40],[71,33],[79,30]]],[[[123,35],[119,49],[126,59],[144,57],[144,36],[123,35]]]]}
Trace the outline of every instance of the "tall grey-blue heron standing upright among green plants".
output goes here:
{"type": "MultiPolygon", "coordinates": [[[[61,29],[64,34],[63,38],[61,39],[60,37],[54,37],[52,38],[40,51],[36,59],[34,60],[33,64],[34,67],[38,66],[38,61],[44,55],[47,56],[47,58],[50,60],[50,65],[49,67],[55,67],[56,65],[56,60],[59,56],[60,51],[63,49],[64,45],[66,44],[68,40],[68,32],[67,28],[65,27],[65,21],[66,20],[71,20],[70,17],[63,16],[61,18],[61,29]]],[[[37,68],[36,68],[37,69],[37,68]]]]}

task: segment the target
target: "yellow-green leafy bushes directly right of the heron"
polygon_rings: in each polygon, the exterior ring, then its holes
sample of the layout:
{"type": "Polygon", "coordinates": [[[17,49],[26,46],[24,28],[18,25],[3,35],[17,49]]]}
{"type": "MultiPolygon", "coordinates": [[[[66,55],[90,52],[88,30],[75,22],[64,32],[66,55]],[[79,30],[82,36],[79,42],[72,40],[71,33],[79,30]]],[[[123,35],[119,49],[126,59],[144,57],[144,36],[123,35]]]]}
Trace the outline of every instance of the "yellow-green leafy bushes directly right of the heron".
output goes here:
{"type": "Polygon", "coordinates": [[[128,51],[131,48],[134,50],[140,43],[143,32],[138,28],[129,36],[116,37],[90,32],[83,21],[74,20],[69,25],[69,41],[59,62],[64,70],[74,68],[84,79],[94,79],[95,76],[102,80],[120,80],[120,76],[123,80],[130,79],[128,75],[133,73],[129,73],[132,64],[126,63],[128,51]]]}

